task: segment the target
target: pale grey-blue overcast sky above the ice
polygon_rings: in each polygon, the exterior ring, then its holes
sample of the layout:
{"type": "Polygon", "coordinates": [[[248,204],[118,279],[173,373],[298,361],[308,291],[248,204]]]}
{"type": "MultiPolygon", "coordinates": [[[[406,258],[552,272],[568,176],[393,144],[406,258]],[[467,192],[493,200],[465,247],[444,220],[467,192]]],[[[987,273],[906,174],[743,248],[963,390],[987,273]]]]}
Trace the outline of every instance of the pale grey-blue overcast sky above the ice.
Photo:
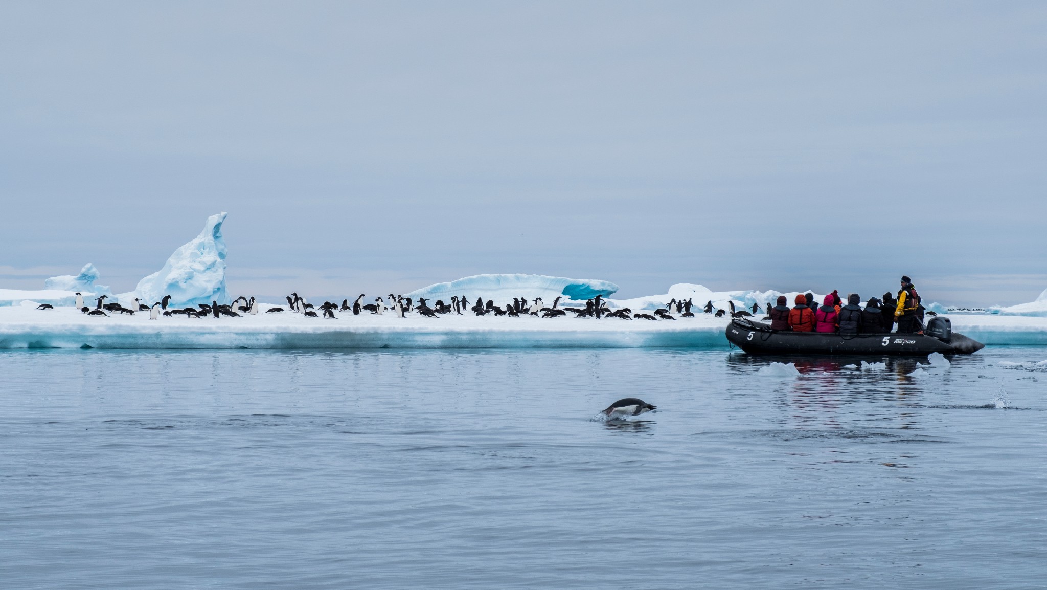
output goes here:
{"type": "MultiPolygon", "coordinates": [[[[1047,288],[1047,3],[3,2],[0,288],[1047,288]]],[[[314,299],[314,298],[311,298],[314,299]]]]}

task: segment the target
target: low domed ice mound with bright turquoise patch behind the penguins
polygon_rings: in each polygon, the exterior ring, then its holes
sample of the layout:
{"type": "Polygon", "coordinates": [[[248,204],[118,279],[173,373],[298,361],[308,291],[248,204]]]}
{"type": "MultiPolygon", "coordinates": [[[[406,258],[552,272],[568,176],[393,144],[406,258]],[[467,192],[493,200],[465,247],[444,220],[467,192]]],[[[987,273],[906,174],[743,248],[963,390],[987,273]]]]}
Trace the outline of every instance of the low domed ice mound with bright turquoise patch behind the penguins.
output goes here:
{"type": "Polygon", "coordinates": [[[410,291],[406,297],[417,300],[442,299],[449,302],[451,296],[467,298],[470,303],[476,298],[494,300],[504,304],[513,298],[541,298],[550,306],[557,297],[566,300],[585,301],[596,296],[604,298],[618,291],[618,285],[594,279],[567,279],[545,275],[473,275],[449,283],[437,283],[410,291]]]}

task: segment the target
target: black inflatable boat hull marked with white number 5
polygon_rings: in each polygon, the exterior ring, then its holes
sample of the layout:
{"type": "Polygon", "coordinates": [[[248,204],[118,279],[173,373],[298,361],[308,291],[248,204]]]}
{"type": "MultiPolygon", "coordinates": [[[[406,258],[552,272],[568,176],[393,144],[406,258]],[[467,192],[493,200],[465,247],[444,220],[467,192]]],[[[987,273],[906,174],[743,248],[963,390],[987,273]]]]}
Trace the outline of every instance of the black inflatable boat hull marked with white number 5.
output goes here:
{"type": "Polygon", "coordinates": [[[922,334],[786,332],[736,318],[727,327],[727,340],[745,352],[759,354],[927,356],[932,352],[971,354],[985,348],[982,343],[954,332],[948,318],[932,318],[922,334]]]}

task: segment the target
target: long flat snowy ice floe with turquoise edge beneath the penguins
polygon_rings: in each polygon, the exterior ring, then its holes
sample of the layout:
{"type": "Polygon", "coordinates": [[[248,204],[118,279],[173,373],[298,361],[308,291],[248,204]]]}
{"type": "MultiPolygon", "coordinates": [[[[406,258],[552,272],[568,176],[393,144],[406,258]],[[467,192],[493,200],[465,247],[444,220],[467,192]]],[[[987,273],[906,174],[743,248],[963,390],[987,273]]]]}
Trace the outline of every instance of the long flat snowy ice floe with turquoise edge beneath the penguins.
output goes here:
{"type": "MultiPolygon", "coordinates": [[[[986,345],[1047,345],[1047,318],[952,316],[953,329],[986,345]]],[[[18,348],[727,348],[727,320],[675,322],[557,318],[438,319],[339,313],[244,318],[88,316],[71,307],[0,308],[0,349],[18,348]]]]}

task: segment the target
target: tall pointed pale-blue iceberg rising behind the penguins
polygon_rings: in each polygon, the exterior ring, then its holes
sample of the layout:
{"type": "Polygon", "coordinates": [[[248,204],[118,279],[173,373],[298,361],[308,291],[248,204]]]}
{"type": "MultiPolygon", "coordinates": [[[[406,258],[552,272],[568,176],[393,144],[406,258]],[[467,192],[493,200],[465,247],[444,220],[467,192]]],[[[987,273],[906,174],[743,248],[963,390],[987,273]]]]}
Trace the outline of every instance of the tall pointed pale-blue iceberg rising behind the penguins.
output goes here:
{"type": "Polygon", "coordinates": [[[127,305],[137,298],[149,304],[171,296],[174,306],[230,303],[225,290],[225,216],[222,212],[208,217],[199,236],[176,249],[163,268],[138,281],[134,291],[118,296],[120,302],[127,305]]]}

